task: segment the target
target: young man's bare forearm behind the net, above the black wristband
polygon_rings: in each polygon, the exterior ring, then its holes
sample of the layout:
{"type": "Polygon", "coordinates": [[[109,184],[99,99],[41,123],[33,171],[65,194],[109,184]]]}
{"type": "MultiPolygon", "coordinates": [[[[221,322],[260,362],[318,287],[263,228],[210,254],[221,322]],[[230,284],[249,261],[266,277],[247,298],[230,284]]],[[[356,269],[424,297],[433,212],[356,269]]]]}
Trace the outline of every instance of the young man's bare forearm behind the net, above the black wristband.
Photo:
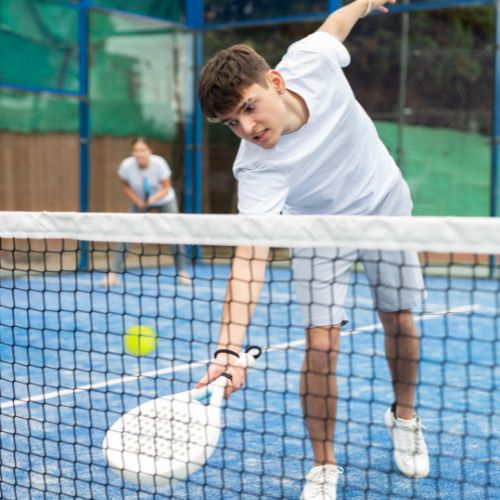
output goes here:
{"type": "Polygon", "coordinates": [[[264,286],[269,249],[238,247],[228,280],[218,349],[239,351],[264,286]]]}

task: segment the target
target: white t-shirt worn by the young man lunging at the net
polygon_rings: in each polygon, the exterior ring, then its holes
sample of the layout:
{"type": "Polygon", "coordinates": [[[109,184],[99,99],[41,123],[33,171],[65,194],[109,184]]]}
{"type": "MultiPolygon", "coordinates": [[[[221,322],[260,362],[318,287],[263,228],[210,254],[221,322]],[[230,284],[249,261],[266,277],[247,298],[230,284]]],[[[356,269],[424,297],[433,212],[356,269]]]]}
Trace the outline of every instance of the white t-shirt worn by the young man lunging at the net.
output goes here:
{"type": "Polygon", "coordinates": [[[308,122],[271,149],[241,141],[233,171],[243,214],[370,214],[400,172],[344,75],[344,45],[316,32],[278,64],[308,122]]]}

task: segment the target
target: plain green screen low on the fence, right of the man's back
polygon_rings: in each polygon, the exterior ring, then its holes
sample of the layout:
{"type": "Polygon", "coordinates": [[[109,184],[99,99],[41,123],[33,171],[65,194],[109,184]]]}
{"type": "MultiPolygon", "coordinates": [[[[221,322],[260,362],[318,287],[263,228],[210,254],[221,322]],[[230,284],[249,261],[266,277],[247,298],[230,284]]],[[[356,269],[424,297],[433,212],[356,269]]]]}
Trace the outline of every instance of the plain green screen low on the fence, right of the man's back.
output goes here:
{"type": "MultiPolygon", "coordinates": [[[[382,141],[397,158],[398,126],[377,122],[382,141]]],[[[405,126],[403,175],[416,215],[488,216],[491,144],[476,132],[405,126]]]]}

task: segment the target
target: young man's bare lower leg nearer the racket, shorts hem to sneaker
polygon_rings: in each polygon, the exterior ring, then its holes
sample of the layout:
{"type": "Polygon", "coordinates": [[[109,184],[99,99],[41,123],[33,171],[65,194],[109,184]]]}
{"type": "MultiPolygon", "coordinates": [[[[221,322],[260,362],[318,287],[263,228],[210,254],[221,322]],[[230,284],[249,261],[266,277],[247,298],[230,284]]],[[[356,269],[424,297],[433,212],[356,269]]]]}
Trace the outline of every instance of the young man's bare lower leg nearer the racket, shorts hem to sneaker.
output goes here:
{"type": "Polygon", "coordinates": [[[337,413],[337,359],[340,326],[306,330],[301,398],[316,465],[335,464],[333,439],[337,413]]]}

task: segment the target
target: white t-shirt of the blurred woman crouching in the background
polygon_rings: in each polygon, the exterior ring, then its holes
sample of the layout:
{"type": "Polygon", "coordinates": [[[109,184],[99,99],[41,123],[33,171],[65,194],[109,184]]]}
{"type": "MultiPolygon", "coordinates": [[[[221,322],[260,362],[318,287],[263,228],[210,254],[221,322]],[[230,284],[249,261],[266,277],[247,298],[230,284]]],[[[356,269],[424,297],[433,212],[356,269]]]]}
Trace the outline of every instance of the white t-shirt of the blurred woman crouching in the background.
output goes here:
{"type": "MultiPolygon", "coordinates": [[[[118,169],[118,177],[127,182],[134,193],[141,199],[146,198],[146,193],[149,191],[149,196],[155,195],[163,189],[161,181],[170,179],[172,171],[168,163],[157,155],[151,155],[149,165],[146,168],[141,168],[137,160],[131,156],[122,161],[118,169]]],[[[153,203],[153,206],[158,207],[175,199],[175,191],[172,186],[167,194],[153,203]]]]}

